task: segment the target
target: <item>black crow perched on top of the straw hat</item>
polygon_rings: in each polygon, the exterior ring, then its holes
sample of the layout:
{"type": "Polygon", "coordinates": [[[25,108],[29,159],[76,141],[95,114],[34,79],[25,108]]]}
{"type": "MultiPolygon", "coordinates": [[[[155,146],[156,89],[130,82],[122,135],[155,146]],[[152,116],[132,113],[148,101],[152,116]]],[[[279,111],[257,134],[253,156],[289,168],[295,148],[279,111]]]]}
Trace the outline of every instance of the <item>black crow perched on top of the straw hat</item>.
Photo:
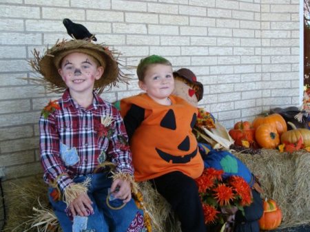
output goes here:
{"type": "Polygon", "coordinates": [[[97,41],[94,34],[91,34],[82,24],[74,23],[70,19],[63,19],[63,25],[65,25],[68,34],[74,39],[91,39],[97,41]]]}

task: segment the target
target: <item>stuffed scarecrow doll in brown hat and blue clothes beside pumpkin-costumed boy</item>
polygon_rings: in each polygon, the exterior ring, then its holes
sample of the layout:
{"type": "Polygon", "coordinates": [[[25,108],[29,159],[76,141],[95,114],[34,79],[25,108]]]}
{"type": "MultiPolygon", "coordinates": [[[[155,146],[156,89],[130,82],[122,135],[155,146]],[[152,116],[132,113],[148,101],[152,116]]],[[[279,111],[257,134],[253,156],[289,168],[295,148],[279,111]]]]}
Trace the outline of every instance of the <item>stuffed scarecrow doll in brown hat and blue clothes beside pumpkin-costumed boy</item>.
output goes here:
{"type": "MultiPolygon", "coordinates": [[[[174,93],[176,96],[184,98],[186,101],[198,106],[198,101],[203,98],[203,84],[196,80],[196,75],[187,68],[181,68],[174,72],[174,93]]],[[[198,116],[199,119],[199,116],[198,116]]],[[[214,127],[214,117],[209,115],[207,118],[208,127],[214,127]],[[213,124],[212,124],[213,121],[213,124]]],[[[209,144],[198,143],[199,151],[203,157],[205,168],[213,167],[223,170],[223,178],[229,176],[241,176],[252,188],[253,202],[249,207],[245,207],[245,215],[237,211],[234,222],[235,232],[259,232],[258,220],[262,216],[262,200],[260,193],[262,189],[256,177],[249,169],[229,151],[213,149],[209,144]]]]}

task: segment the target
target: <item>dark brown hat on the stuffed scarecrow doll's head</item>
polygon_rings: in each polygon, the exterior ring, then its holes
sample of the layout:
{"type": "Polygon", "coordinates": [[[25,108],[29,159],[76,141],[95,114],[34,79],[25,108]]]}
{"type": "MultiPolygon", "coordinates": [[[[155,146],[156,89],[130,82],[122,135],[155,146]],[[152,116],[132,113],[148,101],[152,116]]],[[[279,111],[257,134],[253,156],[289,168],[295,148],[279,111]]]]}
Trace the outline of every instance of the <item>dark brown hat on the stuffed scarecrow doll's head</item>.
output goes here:
{"type": "Polygon", "coordinates": [[[196,75],[194,72],[187,68],[181,68],[180,70],[174,72],[174,76],[183,78],[189,84],[194,85],[195,95],[197,100],[200,101],[203,99],[203,84],[197,81],[196,75]]]}

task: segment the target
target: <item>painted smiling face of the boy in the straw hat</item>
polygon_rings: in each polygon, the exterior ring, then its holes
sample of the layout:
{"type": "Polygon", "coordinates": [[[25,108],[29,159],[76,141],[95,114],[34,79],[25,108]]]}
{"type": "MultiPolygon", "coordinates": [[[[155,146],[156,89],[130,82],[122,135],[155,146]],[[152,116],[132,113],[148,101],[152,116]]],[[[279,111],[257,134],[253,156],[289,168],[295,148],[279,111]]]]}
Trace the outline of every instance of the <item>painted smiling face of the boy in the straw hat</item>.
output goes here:
{"type": "Polygon", "coordinates": [[[61,61],[58,70],[70,93],[83,93],[94,89],[94,81],[103,74],[103,67],[98,67],[92,56],[73,52],[61,61]]]}

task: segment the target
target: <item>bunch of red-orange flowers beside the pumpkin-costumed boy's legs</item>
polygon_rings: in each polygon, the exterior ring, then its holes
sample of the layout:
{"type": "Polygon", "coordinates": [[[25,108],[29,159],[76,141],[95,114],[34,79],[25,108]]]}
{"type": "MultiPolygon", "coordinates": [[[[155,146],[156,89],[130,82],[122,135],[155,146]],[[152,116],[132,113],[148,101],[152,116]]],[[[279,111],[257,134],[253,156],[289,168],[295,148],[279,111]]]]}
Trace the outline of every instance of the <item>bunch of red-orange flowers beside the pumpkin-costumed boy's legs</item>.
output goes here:
{"type": "Polygon", "coordinates": [[[222,229],[234,223],[236,211],[240,210],[244,215],[243,207],[252,202],[249,184],[239,176],[223,179],[223,173],[223,170],[207,168],[196,179],[205,224],[216,228],[220,226],[222,229]]]}

